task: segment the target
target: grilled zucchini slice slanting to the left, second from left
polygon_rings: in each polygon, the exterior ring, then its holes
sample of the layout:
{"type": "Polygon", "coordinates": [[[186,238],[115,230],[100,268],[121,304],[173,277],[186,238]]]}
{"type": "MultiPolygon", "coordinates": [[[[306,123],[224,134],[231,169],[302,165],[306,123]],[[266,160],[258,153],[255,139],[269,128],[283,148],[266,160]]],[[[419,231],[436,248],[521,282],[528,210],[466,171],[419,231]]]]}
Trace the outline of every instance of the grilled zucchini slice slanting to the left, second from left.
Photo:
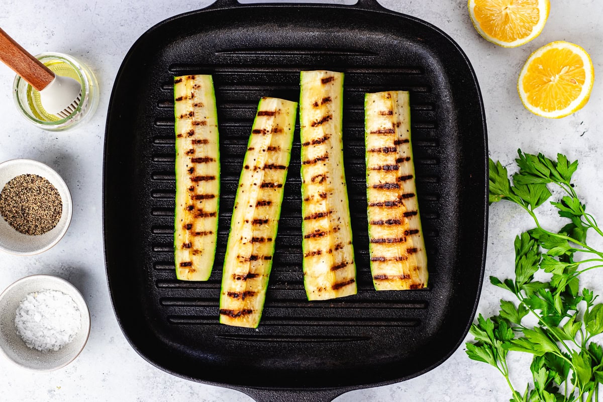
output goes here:
{"type": "Polygon", "coordinates": [[[297,103],[262,98],[257,107],[232,214],[220,295],[220,322],[260,322],[279,225],[297,103]]]}

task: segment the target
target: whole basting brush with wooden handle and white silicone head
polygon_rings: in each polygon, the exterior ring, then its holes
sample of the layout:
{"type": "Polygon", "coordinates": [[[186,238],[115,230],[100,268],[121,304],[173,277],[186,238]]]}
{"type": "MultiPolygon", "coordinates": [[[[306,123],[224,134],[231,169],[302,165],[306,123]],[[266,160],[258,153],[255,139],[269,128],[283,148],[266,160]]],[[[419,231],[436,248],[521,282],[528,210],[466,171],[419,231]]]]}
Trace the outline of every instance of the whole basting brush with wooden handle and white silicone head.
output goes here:
{"type": "Polygon", "coordinates": [[[81,83],[55,75],[0,28],[0,60],[40,92],[46,112],[66,118],[81,101],[81,83]]]}

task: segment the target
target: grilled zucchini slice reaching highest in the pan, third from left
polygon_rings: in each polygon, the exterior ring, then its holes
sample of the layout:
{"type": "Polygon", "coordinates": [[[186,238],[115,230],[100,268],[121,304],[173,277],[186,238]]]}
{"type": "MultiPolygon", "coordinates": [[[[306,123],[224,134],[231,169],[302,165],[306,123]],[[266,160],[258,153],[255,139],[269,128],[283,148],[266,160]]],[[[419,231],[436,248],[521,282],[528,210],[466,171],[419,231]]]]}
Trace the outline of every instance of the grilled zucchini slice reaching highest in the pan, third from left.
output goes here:
{"type": "Polygon", "coordinates": [[[343,166],[343,77],[301,72],[301,231],[308,300],[356,294],[343,166]]]}

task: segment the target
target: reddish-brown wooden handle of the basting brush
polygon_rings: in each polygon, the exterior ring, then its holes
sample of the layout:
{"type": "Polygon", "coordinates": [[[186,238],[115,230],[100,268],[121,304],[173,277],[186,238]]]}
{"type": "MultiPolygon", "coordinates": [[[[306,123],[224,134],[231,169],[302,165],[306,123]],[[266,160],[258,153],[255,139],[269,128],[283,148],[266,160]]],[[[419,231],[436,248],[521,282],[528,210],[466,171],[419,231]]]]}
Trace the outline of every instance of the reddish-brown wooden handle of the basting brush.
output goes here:
{"type": "Polygon", "coordinates": [[[36,90],[41,91],[54,80],[54,72],[22,48],[19,43],[14,42],[2,28],[0,28],[0,60],[36,90]]]}

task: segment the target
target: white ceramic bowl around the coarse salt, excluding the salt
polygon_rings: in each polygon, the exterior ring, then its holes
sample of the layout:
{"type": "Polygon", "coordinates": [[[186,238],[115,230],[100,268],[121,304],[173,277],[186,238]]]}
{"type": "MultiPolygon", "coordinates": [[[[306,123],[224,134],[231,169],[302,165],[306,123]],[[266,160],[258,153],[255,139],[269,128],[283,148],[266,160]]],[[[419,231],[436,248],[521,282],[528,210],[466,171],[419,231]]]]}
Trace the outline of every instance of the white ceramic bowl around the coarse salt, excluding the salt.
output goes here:
{"type": "Polygon", "coordinates": [[[52,275],[31,275],[17,280],[0,294],[0,352],[11,362],[33,371],[62,368],[84,349],[90,334],[90,312],[80,291],[65,279],[52,275]],[[71,296],[81,313],[81,328],[74,340],[57,351],[42,352],[25,345],[17,334],[14,318],[19,303],[31,292],[45,289],[71,296]]]}

